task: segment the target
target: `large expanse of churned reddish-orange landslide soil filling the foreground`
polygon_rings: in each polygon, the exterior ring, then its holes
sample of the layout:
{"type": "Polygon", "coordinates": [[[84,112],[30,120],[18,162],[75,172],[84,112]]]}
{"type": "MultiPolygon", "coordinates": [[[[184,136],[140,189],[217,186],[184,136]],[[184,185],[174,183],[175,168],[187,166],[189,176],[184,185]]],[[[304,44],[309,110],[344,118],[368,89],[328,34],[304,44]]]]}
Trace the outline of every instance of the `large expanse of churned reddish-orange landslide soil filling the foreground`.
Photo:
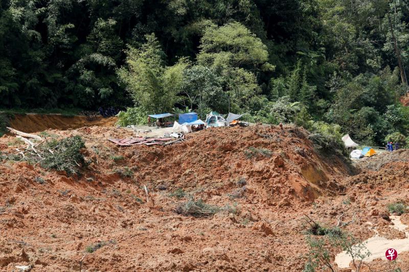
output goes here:
{"type": "MultiPolygon", "coordinates": [[[[133,136],[121,128],[47,132],[81,135],[90,163],[81,177],[0,164],[0,270],[80,271],[83,259],[82,271],[301,271],[305,214],[325,226],[350,221],[342,229],[363,240],[377,229],[391,230],[388,239],[403,233],[389,228],[387,205],[409,202],[409,151],[354,170],[341,156],[317,153],[292,126],[212,128],[169,146],[107,141],[133,136]],[[130,177],[118,174],[125,167],[130,177]],[[178,199],[180,188],[188,195],[178,199]],[[176,213],[189,195],[222,209],[208,217],[176,213]]],[[[2,153],[18,145],[0,138],[2,153]]],[[[380,271],[387,261],[370,265],[380,271]]],[[[398,266],[409,269],[409,254],[399,255],[398,266]]]]}

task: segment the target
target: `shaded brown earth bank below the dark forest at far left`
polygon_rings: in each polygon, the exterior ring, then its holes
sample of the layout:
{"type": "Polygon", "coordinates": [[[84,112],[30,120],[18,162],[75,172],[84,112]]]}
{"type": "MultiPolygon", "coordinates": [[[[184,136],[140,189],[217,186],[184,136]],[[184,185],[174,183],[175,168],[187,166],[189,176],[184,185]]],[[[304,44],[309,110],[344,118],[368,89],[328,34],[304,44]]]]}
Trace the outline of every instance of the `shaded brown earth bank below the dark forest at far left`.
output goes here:
{"type": "Polygon", "coordinates": [[[86,116],[82,115],[14,114],[14,117],[10,119],[10,126],[16,130],[31,133],[48,129],[77,129],[85,126],[112,127],[116,121],[117,117],[98,116],[95,120],[89,121],[86,116]]]}

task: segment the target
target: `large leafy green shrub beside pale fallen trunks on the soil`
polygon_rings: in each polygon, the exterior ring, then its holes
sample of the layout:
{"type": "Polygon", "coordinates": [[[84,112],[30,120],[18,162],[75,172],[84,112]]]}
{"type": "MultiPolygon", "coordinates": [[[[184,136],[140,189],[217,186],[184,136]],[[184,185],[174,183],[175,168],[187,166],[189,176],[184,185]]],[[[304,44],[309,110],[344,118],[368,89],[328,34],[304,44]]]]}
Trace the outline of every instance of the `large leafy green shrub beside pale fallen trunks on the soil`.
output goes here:
{"type": "Polygon", "coordinates": [[[67,174],[79,174],[80,168],[85,165],[84,156],[80,150],[85,143],[80,136],[53,140],[42,147],[44,158],[40,165],[47,169],[65,171],[67,174]],[[51,150],[53,153],[48,152],[51,150]]]}

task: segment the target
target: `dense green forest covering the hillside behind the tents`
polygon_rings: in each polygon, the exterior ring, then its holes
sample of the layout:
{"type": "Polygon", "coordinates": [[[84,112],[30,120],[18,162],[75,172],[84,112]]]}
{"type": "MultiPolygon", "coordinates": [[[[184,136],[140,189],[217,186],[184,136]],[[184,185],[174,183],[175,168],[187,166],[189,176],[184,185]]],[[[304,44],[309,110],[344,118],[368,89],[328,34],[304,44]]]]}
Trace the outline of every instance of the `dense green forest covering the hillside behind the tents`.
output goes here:
{"type": "Polygon", "coordinates": [[[247,112],[404,143],[408,23],[403,0],[0,0],[0,106],[247,112]]]}

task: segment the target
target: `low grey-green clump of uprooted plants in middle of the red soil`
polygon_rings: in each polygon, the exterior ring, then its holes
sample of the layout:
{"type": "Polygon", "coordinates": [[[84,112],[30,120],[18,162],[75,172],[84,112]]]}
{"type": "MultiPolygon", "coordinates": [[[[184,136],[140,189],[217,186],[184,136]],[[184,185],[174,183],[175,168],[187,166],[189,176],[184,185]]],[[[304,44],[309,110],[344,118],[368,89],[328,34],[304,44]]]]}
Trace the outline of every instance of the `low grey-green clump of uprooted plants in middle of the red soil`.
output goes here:
{"type": "Polygon", "coordinates": [[[220,210],[219,207],[206,204],[203,200],[195,201],[193,196],[190,199],[177,206],[175,212],[183,215],[191,215],[194,217],[211,216],[220,210]]]}

